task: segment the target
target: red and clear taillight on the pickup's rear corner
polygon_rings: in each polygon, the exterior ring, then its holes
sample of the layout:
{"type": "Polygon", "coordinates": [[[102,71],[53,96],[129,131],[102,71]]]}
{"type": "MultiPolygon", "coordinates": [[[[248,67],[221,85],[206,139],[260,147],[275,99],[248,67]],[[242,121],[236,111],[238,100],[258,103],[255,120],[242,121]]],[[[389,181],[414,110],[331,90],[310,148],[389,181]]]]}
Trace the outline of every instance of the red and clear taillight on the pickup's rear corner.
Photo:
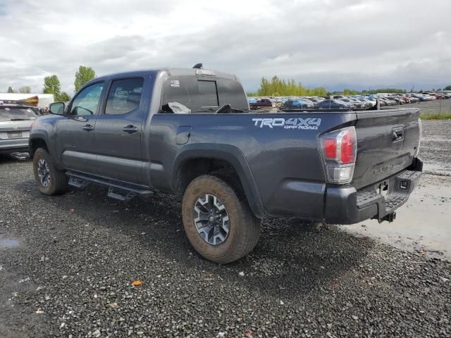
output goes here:
{"type": "Polygon", "coordinates": [[[357,156],[357,137],[354,127],[328,132],[320,137],[326,179],[331,183],[352,181],[357,156]]]}

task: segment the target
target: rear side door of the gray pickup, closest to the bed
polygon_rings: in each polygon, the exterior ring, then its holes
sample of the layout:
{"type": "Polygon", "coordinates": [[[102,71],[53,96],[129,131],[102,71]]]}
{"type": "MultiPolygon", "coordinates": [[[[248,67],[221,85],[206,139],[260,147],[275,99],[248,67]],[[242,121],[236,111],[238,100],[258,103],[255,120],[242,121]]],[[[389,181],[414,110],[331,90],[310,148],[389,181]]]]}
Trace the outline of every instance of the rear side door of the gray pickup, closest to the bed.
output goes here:
{"type": "Polygon", "coordinates": [[[98,175],[142,184],[143,86],[143,77],[112,80],[94,132],[98,175]]]}

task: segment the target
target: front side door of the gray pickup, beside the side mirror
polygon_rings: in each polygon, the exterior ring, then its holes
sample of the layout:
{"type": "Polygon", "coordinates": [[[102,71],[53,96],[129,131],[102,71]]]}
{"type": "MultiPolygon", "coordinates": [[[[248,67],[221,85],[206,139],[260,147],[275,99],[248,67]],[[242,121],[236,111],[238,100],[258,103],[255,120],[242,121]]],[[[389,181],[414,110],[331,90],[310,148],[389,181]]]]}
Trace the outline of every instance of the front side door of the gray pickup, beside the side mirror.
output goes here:
{"type": "Polygon", "coordinates": [[[68,106],[66,119],[56,127],[56,149],[64,168],[94,173],[94,128],[104,82],[90,84],[68,106]]]}

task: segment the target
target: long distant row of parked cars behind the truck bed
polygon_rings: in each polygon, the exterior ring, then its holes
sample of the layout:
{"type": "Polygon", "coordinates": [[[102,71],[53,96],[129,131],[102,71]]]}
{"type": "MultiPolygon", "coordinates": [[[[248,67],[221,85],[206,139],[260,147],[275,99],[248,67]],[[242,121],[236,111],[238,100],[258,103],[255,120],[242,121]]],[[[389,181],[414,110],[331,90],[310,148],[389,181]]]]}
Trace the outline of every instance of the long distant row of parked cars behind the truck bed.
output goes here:
{"type": "Polygon", "coordinates": [[[372,95],[334,95],[330,98],[323,96],[290,96],[290,97],[249,97],[251,109],[266,107],[282,108],[342,108],[342,109],[369,109],[376,104],[380,106],[400,106],[414,104],[419,101],[432,101],[437,99],[450,99],[451,94],[446,93],[409,93],[409,94],[372,94],[372,95]]]}

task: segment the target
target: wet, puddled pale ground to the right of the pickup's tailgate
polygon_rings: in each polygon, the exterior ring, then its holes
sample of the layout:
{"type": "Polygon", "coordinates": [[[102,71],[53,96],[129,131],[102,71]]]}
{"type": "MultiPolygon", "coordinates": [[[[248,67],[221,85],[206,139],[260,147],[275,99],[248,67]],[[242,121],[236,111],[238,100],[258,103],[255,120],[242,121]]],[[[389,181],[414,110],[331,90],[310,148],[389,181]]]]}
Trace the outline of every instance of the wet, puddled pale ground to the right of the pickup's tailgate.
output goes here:
{"type": "Polygon", "coordinates": [[[451,121],[423,121],[424,175],[393,223],[366,220],[347,232],[428,256],[451,260],[451,121]]]}

